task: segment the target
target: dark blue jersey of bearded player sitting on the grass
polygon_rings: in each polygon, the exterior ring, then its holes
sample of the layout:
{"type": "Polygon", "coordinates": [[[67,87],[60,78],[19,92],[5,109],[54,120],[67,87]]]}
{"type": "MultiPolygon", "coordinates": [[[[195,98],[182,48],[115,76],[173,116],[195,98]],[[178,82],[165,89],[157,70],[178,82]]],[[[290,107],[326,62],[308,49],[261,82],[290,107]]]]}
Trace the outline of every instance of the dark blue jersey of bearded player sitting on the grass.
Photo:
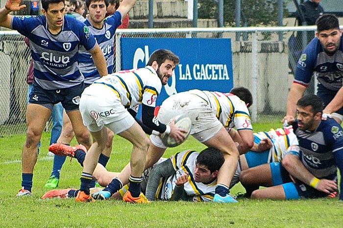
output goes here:
{"type": "MultiPolygon", "coordinates": [[[[343,129],[334,119],[322,120],[313,132],[301,131],[297,121],[293,129],[298,138],[300,160],[319,179],[337,180],[337,167],[343,180],[343,129]]],[[[343,182],[341,181],[343,200],[343,182]]]]}

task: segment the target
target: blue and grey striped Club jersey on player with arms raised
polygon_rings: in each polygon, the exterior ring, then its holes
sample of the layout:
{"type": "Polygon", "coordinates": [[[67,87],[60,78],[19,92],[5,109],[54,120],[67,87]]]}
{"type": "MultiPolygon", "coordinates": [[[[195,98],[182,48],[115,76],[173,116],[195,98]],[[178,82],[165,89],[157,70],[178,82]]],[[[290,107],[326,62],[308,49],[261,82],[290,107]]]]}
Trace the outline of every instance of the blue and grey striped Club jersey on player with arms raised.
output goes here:
{"type": "Polygon", "coordinates": [[[91,50],[97,44],[84,23],[64,17],[57,35],[49,32],[44,15],[13,17],[11,27],[30,40],[35,83],[43,89],[56,90],[83,82],[78,69],[79,46],[91,50]]]}

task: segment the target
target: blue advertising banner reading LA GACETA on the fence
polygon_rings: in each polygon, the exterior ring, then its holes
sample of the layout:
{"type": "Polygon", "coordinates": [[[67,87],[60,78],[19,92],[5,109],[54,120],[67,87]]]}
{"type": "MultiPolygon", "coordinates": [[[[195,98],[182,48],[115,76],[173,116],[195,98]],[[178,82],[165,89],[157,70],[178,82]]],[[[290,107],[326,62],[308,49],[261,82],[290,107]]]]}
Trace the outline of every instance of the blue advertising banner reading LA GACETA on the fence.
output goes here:
{"type": "Polygon", "coordinates": [[[122,69],[143,68],[150,54],[169,49],[180,58],[168,85],[157,98],[191,89],[229,92],[233,87],[231,39],[121,38],[122,69]]]}

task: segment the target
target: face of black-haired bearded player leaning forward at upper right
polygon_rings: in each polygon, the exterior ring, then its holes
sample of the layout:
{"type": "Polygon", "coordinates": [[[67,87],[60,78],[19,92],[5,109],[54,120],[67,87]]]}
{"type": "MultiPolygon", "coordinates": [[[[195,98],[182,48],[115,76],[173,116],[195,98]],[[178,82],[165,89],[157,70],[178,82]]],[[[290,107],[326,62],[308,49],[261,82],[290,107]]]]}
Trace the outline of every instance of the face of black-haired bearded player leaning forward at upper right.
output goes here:
{"type": "Polygon", "coordinates": [[[328,54],[334,54],[341,44],[342,31],[333,28],[316,33],[323,49],[328,54]]]}

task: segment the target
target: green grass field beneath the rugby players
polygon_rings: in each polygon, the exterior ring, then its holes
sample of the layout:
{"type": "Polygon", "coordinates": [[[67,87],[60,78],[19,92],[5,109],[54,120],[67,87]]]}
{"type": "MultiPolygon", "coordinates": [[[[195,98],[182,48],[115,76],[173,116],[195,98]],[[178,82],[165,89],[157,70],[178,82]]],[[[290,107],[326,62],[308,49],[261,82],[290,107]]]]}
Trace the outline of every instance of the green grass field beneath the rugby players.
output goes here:
{"type": "MultiPolygon", "coordinates": [[[[254,131],[268,130],[279,123],[253,125],[254,131]]],[[[25,135],[0,138],[0,227],[123,227],[123,228],[221,228],[221,227],[343,227],[343,202],[337,199],[299,201],[241,200],[238,204],[152,202],[131,205],[122,201],[75,203],[73,199],[46,199],[44,184],[49,178],[52,158],[47,157],[49,134],[42,137],[41,153],[35,166],[33,196],[14,197],[21,186],[21,151],[25,135]]],[[[75,141],[72,144],[76,144],[75,141]]],[[[204,146],[190,137],[167,150],[165,157],[185,149],[204,146]]],[[[115,137],[107,168],[120,171],[128,162],[131,145],[115,137]]],[[[79,187],[81,166],[67,160],[58,188],[79,187]]],[[[237,184],[231,193],[243,191],[237,184]]]]}

